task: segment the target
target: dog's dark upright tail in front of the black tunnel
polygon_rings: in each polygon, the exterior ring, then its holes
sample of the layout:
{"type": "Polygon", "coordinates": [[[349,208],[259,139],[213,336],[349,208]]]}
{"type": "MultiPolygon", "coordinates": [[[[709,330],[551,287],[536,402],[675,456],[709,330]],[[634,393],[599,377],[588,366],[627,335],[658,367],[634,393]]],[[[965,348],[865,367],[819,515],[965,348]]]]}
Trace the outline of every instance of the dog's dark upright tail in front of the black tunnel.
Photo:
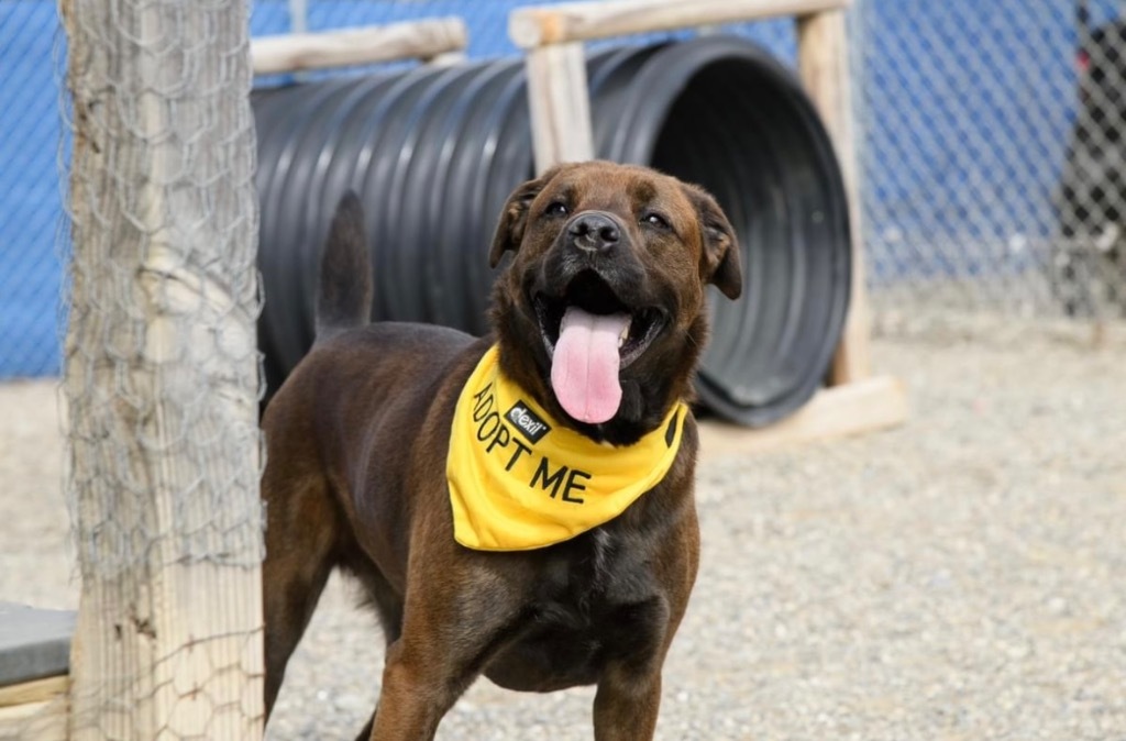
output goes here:
{"type": "Polygon", "coordinates": [[[364,207],[359,197],[349,190],[337,205],[321,255],[316,341],[367,324],[372,316],[373,291],[364,207]]]}

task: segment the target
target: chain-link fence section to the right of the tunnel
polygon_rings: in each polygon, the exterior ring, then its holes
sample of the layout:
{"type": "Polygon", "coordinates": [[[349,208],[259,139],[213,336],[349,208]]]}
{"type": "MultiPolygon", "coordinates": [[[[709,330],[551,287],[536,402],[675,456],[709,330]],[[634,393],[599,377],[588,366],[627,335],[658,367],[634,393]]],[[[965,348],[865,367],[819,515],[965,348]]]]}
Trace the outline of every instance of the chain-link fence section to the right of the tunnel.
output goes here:
{"type": "Polygon", "coordinates": [[[877,309],[1126,312],[1119,5],[856,6],[864,236],[877,309]]]}

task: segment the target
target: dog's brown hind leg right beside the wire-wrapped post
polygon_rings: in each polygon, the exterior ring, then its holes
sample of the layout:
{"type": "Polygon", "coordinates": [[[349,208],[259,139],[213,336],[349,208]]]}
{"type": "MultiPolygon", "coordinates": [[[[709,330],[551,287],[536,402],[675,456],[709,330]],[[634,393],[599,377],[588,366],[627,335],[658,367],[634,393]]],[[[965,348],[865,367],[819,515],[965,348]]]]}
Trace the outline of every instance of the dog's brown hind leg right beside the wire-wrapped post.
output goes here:
{"type": "Polygon", "coordinates": [[[327,484],[319,475],[297,477],[284,468],[269,464],[263,476],[263,491],[271,492],[262,564],[267,717],[289,657],[337,565],[337,512],[327,484]]]}

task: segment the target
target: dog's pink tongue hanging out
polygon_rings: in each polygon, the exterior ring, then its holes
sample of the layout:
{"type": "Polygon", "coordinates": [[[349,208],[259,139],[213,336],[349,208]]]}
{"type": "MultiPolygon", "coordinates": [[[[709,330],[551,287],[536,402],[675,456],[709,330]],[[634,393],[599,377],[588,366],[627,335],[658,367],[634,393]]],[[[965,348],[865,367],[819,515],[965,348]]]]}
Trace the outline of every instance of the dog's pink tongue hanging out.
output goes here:
{"type": "Polygon", "coordinates": [[[628,324],[628,314],[588,314],[574,306],[563,314],[552,357],[552,389],[577,420],[599,425],[617,413],[618,338],[628,324]]]}

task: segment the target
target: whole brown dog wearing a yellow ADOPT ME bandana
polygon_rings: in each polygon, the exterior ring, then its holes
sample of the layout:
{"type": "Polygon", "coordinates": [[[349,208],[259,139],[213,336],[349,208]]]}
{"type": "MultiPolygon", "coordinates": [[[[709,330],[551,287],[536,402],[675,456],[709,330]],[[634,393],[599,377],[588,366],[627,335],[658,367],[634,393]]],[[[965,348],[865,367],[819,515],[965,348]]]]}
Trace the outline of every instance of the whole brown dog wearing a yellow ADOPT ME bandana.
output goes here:
{"type": "Polygon", "coordinates": [[[366,587],[387,640],[361,739],[432,739],[482,673],[531,691],[597,684],[596,739],[652,738],[699,555],[697,436],[681,402],[707,336],[705,285],[741,291],[731,225],[706,193],[652,170],[554,168],[501,214],[490,259],[515,255],[493,288],[494,336],[475,339],[367,325],[361,222],[346,197],[322,265],[316,345],[263,419],[267,708],[342,568],[366,587]],[[519,395],[511,409],[491,382],[473,386],[489,357],[490,377],[519,395]],[[455,411],[464,444],[452,439],[455,411]],[[542,453],[552,437],[588,457],[542,453]],[[499,476],[527,464],[513,480],[527,491],[513,496],[531,499],[506,510],[507,534],[479,521],[501,489],[484,468],[466,463],[455,482],[463,448],[499,476]],[[616,496],[598,490],[610,474],[587,465],[595,458],[607,471],[632,461],[619,481],[642,491],[590,515],[616,496]],[[479,494],[491,503],[473,505],[479,494]]]}

